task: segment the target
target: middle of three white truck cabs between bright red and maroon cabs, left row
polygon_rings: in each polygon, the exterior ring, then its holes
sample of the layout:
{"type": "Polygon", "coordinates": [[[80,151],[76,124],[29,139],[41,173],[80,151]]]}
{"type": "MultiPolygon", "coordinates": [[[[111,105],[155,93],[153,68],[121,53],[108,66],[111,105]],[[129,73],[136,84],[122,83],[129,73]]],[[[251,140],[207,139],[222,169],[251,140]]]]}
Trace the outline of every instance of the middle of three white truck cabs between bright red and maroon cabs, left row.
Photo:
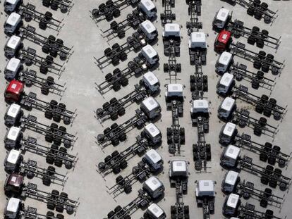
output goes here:
{"type": "Polygon", "coordinates": [[[23,137],[23,133],[20,130],[20,127],[11,127],[5,135],[4,146],[6,149],[11,150],[19,146],[19,143],[23,137]]]}

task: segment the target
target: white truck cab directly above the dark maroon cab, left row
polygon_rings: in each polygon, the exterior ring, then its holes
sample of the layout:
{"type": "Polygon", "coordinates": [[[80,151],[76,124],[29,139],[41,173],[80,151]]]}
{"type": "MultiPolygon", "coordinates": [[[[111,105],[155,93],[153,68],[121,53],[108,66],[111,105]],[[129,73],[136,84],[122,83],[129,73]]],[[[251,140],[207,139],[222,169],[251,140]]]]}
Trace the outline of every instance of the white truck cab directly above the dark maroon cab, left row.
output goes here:
{"type": "Polygon", "coordinates": [[[6,173],[13,173],[16,171],[23,161],[23,156],[20,155],[20,151],[12,149],[6,155],[4,160],[4,169],[6,173]]]}

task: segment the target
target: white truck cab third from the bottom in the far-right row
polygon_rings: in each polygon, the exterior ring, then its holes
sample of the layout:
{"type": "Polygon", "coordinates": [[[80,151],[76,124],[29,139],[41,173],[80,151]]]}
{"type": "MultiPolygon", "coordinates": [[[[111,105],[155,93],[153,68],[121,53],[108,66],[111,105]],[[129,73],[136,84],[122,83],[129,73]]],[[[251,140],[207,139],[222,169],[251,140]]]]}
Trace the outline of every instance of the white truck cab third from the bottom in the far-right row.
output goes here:
{"type": "Polygon", "coordinates": [[[229,144],[221,154],[220,164],[227,168],[234,168],[238,163],[238,159],[240,158],[241,149],[237,146],[229,144]]]}

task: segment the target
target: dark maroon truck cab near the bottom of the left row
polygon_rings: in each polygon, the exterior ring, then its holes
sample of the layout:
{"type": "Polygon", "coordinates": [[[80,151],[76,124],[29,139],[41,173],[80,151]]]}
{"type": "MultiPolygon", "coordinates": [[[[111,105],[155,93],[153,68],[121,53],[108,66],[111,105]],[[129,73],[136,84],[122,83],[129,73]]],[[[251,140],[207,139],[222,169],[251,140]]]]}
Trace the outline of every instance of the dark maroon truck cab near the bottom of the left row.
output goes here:
{"type": "Polygon", "coordinates": [[[23,185],[24,185],[23,175],[11,173],[11,175],[8,175],[8,177],[6,178],[4,184],[5,194],[8,196],[11,196],[13,194],[20,195],[22,192],[23,185]]]}

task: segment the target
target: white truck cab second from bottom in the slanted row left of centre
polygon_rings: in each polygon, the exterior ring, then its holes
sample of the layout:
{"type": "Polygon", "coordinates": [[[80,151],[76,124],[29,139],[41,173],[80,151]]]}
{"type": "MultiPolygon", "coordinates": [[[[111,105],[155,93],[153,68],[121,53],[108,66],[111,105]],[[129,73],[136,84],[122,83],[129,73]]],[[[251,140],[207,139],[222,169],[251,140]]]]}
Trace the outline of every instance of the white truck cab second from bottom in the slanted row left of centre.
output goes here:
{"type": "Polygon", "coordinates": [[[164,184],[154,176],[146,180],[142,188],[152,199],[159,199],[164,195],[164,184]]]}

